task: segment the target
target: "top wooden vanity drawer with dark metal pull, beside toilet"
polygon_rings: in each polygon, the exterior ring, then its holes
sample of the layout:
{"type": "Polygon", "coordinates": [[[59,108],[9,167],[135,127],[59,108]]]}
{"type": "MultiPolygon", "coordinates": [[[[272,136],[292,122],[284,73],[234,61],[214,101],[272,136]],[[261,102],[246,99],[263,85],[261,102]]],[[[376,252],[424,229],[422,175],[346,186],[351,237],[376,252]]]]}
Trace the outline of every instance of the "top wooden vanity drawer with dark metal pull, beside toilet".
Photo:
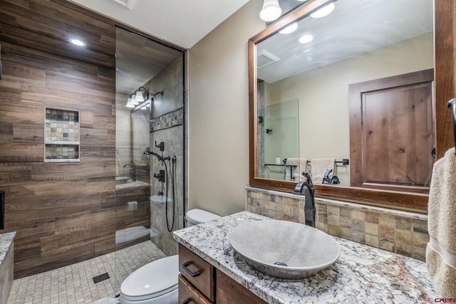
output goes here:
{"type": "Polygon", "coordinates": [[[179,244],[179,265],[182,276],[214,302],[214,266],[181,244],[179,244]]]}

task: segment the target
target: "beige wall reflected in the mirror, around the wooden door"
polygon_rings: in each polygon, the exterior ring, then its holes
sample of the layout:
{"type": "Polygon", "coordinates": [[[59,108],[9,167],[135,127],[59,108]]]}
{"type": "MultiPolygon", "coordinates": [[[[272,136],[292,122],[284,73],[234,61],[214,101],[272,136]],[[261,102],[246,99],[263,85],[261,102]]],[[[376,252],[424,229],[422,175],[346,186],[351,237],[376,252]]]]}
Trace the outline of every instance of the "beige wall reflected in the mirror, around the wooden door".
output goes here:
{"type": "MultiPolygon", "coordinates": [[[[299,98],[299,154],[350,157],[348,85],[433,68],[432,32],[265,85],[265,104],[299,98]]],[[[343,186],[350,169],[337,166],[343,186]]]]}

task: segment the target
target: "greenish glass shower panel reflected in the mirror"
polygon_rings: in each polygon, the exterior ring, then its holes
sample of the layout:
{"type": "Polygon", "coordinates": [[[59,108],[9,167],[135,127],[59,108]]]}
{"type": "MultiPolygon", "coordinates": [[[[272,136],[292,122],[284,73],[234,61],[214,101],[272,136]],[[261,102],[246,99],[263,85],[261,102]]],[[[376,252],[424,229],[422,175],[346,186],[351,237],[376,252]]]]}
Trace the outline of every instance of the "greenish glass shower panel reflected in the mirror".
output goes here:
{"type": "Polygon", "coordinates": [[[258,147],[260,177],[299,180],[299,100],[289,100],[259,108],[258,147]],[[287,160],[288,159],[288,160],[287,160]],[[295,159],[295,161],[292,161],[295,159]],[[293,179],[295,177],[295,179],[293,179]]]}

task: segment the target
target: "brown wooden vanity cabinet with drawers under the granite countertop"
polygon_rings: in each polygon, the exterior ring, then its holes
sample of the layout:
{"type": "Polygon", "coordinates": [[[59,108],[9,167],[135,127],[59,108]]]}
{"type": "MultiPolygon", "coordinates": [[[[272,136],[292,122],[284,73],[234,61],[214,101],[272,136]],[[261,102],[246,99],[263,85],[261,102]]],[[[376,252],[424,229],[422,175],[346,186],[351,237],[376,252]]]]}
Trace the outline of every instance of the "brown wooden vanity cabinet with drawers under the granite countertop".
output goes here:
{"type": "Polygon", "coordinates": [[[179,244],[179,303],[266,304],[257,295],[179,244]]]}

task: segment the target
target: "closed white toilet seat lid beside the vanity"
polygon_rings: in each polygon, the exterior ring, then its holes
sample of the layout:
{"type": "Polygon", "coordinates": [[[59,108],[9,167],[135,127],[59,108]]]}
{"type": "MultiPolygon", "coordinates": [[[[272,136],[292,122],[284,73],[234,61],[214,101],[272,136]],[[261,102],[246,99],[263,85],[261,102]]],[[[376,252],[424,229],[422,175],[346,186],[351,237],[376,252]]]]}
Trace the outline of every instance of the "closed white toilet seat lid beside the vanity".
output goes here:
{"type": "Polygon", "coordinates": [[[179,256],[168,256],[148,263],[130,274],[120,286],[125,300],[146,300],[177,288],[179,256]]]}

